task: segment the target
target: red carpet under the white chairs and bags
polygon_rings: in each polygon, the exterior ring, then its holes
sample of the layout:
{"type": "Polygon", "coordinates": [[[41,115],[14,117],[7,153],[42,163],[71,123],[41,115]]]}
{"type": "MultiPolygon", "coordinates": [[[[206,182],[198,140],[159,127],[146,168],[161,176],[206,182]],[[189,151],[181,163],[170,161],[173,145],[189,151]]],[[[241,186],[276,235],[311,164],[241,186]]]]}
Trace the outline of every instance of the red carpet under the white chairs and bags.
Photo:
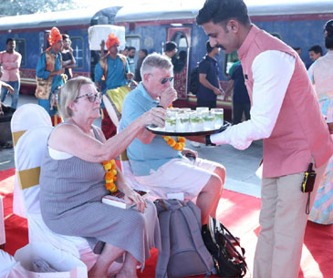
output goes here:
{"type": "MultiPolygon", "coordinates": [[[[26,220],[13,214],[13,187],[15,170],[0,171],[0,194],[4,197],[5,209],[5,251],[14,255],[16,249],[27,243],[26,220]]],[[[241,238],[245,247],[246,262],[253,270],[255,243],[260,230],[258,216],[260,199],[241,193],[224,190],[223,199],[218,208],[218,219],[229,228],[234,235],[241,238]]],[[[307,231],[303,245],[301,271],[298,278],[330,278],[333,277],[332,263],[333,225],[324,226],[307,222],[307,231]]],[[[153,278],[157,259],[157,251],[151,251],[151,259],[146,262],[143,273],[139,277],[153,278]]],[[[248,273],[246,277],[252,276],[248,273]]],[[[203,276],[195,276],[203,277],[203,276]]]]}

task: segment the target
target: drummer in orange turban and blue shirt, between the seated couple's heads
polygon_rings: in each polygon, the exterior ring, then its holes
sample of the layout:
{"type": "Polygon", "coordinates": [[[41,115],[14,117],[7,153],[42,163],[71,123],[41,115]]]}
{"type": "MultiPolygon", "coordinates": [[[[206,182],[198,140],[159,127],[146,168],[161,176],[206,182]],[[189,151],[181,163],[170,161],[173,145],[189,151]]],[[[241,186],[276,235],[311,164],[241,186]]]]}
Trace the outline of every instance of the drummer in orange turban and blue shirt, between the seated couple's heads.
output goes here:
{"type": "MultiPolygon", "coordinates": [[[[104,43],[101,43],[104,48],[104,43]]],[[[108,90],[121,88],[128,84],[128,79],[134,77],[130,72],[129,63],[127,58],[120,52],[120,39],[114,34],[110,33],[106,42],[108,53],[100,58],[99,63],[95,67],[95,83],[99,90],[101,90],[101,82],[105,80],[106,87],[102,90],[105,94],[108,90]]],[[[129,88],[124,88],[126,93],[129,88]]],[[[109,92],[112,94],[113,92],[109,92]]],[[[117,92],[118,93],[118,92],[117,92]]],[[[124,92],[124,94],[126,94],[124,92]]],[[[102,107],[104,117],[102,118],[101,128],[106,137],[109,139],[116,135],[117,127],[109,118],[107,110],[102,107]]]]}

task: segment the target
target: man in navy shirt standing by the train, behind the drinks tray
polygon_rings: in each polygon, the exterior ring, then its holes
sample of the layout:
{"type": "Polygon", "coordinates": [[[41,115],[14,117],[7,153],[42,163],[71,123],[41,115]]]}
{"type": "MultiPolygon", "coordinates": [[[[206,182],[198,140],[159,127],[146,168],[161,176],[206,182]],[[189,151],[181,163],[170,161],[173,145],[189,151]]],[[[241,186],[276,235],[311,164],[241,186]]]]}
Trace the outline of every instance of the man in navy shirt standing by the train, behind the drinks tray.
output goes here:
{"type": "Polygon", "coordinates": [[[220,85],[219,68],[214,58],[219,55],[220,48],[212,47],[206,42],[207,55],[199,63],[200,86],[196,95],[197,107],[216,108],[216,98],[223,95],[224,91],[220,85]]]}

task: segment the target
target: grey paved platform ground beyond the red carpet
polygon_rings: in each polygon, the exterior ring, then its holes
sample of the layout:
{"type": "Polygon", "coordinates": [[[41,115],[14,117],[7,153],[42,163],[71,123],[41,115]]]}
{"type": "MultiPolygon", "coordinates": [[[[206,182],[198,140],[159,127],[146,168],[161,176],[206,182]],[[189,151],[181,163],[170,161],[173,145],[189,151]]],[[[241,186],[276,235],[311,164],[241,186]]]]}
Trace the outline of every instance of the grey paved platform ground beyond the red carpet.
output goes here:
{"type": "MultiPolygon", "coordinates": [[[[10,98],[5,104],[10,103],[10,98]]],[[[21,95],[18,105],[25,103],[36,103],[34,96],[21,95]]],[[[100,119],[95,122],[100,126],[100,119]]],[[[1,130],[0,130],[1,132],[1,130]]],[[[260,180],[255,176],[259,162],[262,158],[262,141],[255,141],[245,150],[234,149],[229,145],[218,147],[194,148],[186,144],[188,148],[198,151],[201,158],[222,163],[226,169],[225,189],[242,192],[255,197],[260,197],[260,180]]],[[[15,167],[14,149],[0,150],[0,170],[7,170],[15,167]]]]}

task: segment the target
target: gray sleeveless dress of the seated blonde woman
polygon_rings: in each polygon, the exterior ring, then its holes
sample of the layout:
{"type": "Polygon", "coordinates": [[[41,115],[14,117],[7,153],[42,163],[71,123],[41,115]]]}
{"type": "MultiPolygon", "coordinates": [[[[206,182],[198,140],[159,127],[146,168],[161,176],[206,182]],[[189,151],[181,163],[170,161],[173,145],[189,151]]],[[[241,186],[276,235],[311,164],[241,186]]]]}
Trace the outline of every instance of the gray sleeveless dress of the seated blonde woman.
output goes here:
{"type": "MultiPolygon", "coordinates": [[[[96,129],[94,133],[100,140],[96,129]]],[[[40,172],[43,220],[53,232],[87,238],[94,252],[101,251],[99,241],[107,242],[130,252],[143,265],[150,249],[161,246],[155,206],[148,201],[141,213],[102,203],[101,198],[109,194],[104,175],[101,163],[74,156],[53,160],[46,149],[40,172]]]]}

